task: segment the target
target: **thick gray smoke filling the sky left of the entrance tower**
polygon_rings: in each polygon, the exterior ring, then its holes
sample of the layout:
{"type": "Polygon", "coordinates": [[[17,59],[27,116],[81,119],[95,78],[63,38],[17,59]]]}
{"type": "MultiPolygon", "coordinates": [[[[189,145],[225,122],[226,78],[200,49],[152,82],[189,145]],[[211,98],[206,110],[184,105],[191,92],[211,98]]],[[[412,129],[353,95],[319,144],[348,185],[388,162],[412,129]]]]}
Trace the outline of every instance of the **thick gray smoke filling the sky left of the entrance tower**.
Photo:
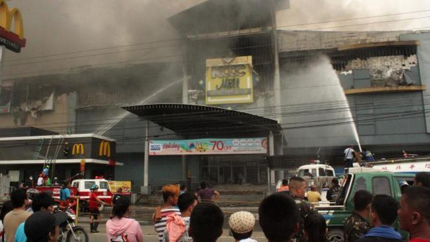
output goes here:
{"type": "Polygon", "coordinates": [[[130,60],[136,60],[131,64],[181,61],[178,41],[157,41],[177,40],[178,33],[167,19],[202,1],[8,1],[9,8],[21,10],[27,45],[19,54],[6,51],[3,79],[68,72],[77,66],[124,65],[130,60]],[[154,43],[141,44],[148,42],[154,43]],[[109,48],[124,45],[132,46],[109,48]],[[99,48],[106,49],[94,50],[99,48]],[[75,51],[83,52],[62,55],[75,51]],[[56,56],[43,57],[47,55],[56,56]],[[41,58],[27,59],[32,57],[41,58]]]}

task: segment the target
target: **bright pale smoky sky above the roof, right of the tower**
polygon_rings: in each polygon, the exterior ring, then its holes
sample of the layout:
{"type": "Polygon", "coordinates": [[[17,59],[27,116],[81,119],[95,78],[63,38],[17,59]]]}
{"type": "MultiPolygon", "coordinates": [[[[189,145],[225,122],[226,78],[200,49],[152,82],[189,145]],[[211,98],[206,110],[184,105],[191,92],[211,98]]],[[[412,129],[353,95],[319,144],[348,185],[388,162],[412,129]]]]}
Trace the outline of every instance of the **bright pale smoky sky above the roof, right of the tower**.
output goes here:
{"type": "Polygon", "coordinates": [[[361,20],[326,22],[333,20],[380,16],[387,14],[414,12],[430,9],[429,0],[290,0],[290,8],[277,14],[278,27],[290,30],[322,29],[325,31],[392,31],[429,29],[429,12],[415,12],[395,16],[368,18],[361,20]],[[398,21],[401,19],[411,19],[398,21]],[[386,22],[393,21],[393,22],[386,22]],[[295,25],[310,22],[326,22],[310,25],[295,25]],[[357,23],[386,22],[365,25],[357,23]],[[295,25],[295,26],[290,26],[295,25]],[[351,25],[339,27],[344,25],[351,25]],[[334,28],[328,28],[333,27],[334,28]]]}

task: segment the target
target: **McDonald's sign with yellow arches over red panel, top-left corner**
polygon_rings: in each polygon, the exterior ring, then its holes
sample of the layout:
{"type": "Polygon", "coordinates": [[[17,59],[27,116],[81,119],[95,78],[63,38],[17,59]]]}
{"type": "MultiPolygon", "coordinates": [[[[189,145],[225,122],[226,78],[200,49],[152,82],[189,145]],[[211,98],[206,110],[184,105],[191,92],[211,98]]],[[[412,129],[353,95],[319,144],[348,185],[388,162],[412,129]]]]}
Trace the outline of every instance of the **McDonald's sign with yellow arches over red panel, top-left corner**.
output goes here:
{"type": "Polygon", "coordinates": [[[19,53],[21,47],[25,47],[25,41],[20,10],[9,9],[5,0],[0,0],[0,44],[19,53]],[[12,20],[14,20],[14,32],[11,31],[12,20]]]}

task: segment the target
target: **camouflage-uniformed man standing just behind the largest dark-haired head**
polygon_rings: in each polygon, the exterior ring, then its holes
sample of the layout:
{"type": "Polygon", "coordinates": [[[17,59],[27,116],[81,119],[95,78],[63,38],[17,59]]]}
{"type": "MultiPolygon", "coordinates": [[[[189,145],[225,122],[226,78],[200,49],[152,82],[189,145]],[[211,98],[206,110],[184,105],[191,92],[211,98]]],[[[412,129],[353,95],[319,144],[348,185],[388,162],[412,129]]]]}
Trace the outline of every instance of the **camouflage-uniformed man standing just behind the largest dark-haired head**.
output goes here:
{"type": "Polygon", "coordinates": [[[299,176],[293,176],[289,182],[290,186],[290,196],[296,202],[299,208],[299,232],[295,236],[296,242],[305,242],[306,239],[303,236],[303,222],[304,219],[313,214],[318,213],[314,206],[304,199],[304,195],[306,193],[306,182],[303,178],[299,176]]]}

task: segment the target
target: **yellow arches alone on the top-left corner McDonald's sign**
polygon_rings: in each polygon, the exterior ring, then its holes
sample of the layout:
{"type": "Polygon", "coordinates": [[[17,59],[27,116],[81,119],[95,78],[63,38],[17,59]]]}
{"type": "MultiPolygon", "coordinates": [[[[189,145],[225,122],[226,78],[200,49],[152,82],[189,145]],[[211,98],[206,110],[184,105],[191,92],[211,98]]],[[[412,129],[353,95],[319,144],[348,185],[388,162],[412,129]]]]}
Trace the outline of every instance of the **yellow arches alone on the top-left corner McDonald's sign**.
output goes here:
{"type": "Polygon", "coordinates": [[[20,39],[23,39],[24,27],[21,11],[18,8],[9,10],[7,3],[4,0],[0,0],[0,25],[7,31],[10,31],[12,20],[15,20],[14,33],[17,34],[20,39]]]}

